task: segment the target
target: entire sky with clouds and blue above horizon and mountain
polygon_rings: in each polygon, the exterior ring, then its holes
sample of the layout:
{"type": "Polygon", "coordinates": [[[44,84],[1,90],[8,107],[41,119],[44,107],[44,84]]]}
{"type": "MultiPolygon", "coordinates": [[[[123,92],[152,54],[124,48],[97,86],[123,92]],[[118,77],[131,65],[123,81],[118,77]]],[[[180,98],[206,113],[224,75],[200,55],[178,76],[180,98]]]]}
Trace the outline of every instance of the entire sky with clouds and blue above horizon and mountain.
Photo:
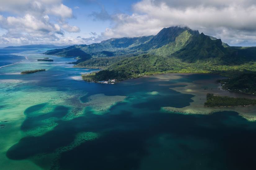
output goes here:
{"type": "Polygon", "coordinates": [[[0,47],[74,45],[187,26],[256,46],[255,0],[0,0],[0,47]]]}

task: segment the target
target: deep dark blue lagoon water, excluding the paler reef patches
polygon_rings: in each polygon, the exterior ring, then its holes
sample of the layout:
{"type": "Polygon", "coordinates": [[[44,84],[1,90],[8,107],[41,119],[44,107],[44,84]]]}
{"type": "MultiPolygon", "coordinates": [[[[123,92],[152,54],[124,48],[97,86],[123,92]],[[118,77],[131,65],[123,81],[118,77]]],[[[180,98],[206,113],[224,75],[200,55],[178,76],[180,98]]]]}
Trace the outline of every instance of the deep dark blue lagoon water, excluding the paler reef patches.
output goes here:
{"type": "MultiPolygon", "coordinates": [[[[65,63],[65,58],[54,58],[54,61],[65,63]]],[[[20,126],[22,132],[49,125],[49,119],[55,120],[57,125],[42,135],[27,135],[7,148],[6,156],[12,161],[28,159],[43,169],[64,170],[254,170],[256,167],[256,122],[236,112],[185,115],[161,110],[166,106],[183,108],[193,102],[193,95],[170,89],[182,87],[176,83],[221,78],[219,75],[182,75],[180,79],[167,81],[146,77],[109,85],[67,79],[82,70],[62,67],[55,62],[49,65],[47,71],[35,74],[0,75],[0,79],[37,80],[17,85],[8,93],[26,90],[33,94],[49,88],[80,96],[67,98],[72,107],[56,104],[44,114],[37,113],[52,107],[51,98],[46,103],[26,108],[25,120],[20,126]],[[151,91],[159,94],[150,96],[147,92],[151,91]],[[80,117],[62,119],[69,113],[75,114],[76,107],[96,94],[127,98],[103,115],[85,108],[80,117]],[[53,160],[43,159],[42,155],[69,146],[81,132],[100,136],[70,147],[53,160]]]]}

